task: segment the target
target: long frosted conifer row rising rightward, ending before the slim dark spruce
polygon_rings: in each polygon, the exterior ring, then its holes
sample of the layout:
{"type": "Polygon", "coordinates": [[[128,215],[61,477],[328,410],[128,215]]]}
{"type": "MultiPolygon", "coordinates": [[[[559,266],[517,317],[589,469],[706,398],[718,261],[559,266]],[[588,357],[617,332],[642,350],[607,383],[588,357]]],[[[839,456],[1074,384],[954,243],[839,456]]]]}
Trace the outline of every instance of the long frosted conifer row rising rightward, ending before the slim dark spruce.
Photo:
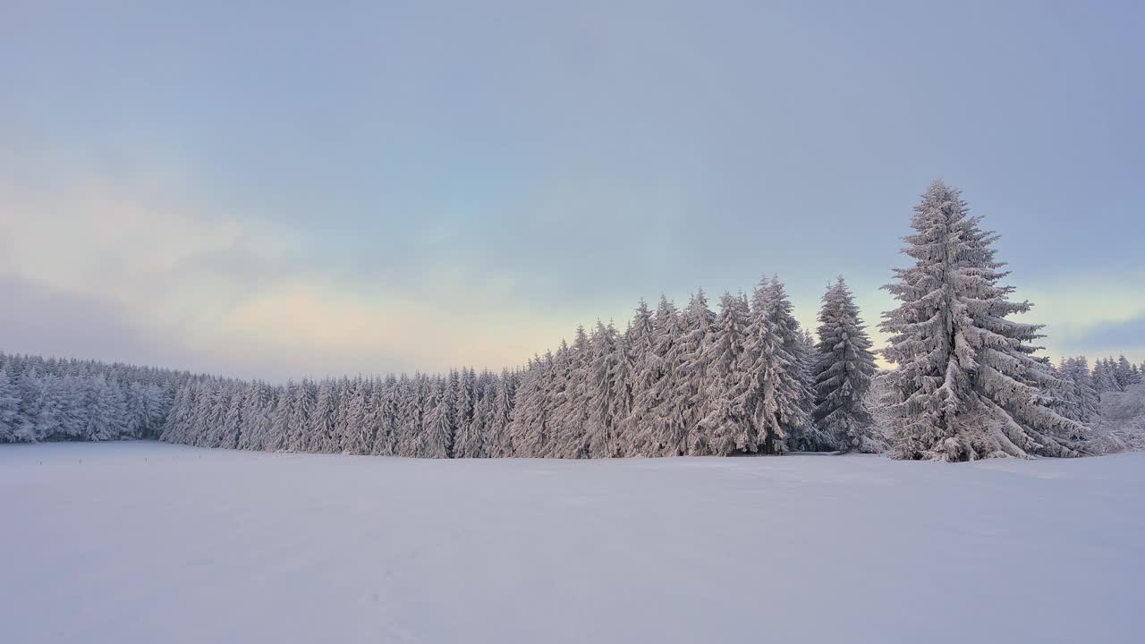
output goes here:
{"type": "MultiPolygon", "coordinates": [[[[861,329],[851,332],[859,346],[869,346],[861,329]]],[[[562,341],[515,371],[461,369],[284,386],[191,380],[175,394],[160,438],[204,447],[425,458],[850,448],[861,427],[840,437],[812,422],[815,355],[782,283],[771,278],[750,301],[725,293],[719,313],[703,292],[684,311],[668,298],[655,312],[640,303],[625,331],[601,322],[591,333],[578,328],[571,344],[562,341]]],[[[864,355],[869,364],[869,352],[864,355]]],[[[863,369],[840,386],[861,395],[869,377],[863,369]]]]}

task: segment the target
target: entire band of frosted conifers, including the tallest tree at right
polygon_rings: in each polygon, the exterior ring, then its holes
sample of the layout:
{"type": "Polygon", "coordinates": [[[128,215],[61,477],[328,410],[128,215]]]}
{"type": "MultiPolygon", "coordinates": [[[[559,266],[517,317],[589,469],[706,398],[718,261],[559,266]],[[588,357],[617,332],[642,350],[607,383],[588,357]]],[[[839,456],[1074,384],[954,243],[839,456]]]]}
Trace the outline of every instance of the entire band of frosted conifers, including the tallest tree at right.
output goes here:
{"type": "Polygon", "coordinates": [[[1037,355],[997,236],[935,181],[885,289],[879,372],[845,280],[802,329],[777,277],[716,306],[662,297],[500,372],[269,384],[0,354],[0,442],[158,438],[231,449],[424,458],[789,451],[969,461],[1142,447],[1145,364],[1037,355]],[[813,332],[812,332],[813,331],[813,332]],[[1124,398],[1127,396],[1128,398],[1124,398]],[[1110,411],[1113,409],[1113,411],[1110,411]],[[1116,416],[1111,419],[1106,416],[1116,416]]]}

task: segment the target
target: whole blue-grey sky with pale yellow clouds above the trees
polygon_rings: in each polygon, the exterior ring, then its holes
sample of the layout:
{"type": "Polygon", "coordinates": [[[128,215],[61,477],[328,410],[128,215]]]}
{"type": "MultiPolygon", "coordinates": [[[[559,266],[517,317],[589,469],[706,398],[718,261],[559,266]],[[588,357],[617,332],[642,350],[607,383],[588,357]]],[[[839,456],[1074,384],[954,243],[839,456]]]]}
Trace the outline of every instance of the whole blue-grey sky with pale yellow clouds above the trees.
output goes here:
{"type": "MultiPolygon", "coordinates": [[[[935,178],[1048,354],[1145,360],[1140,2],[0,0],[0,351],[522,364],[843,274],[935,178]]],[[[871,329],[876,344],[883,337],[871,329]]]]}

